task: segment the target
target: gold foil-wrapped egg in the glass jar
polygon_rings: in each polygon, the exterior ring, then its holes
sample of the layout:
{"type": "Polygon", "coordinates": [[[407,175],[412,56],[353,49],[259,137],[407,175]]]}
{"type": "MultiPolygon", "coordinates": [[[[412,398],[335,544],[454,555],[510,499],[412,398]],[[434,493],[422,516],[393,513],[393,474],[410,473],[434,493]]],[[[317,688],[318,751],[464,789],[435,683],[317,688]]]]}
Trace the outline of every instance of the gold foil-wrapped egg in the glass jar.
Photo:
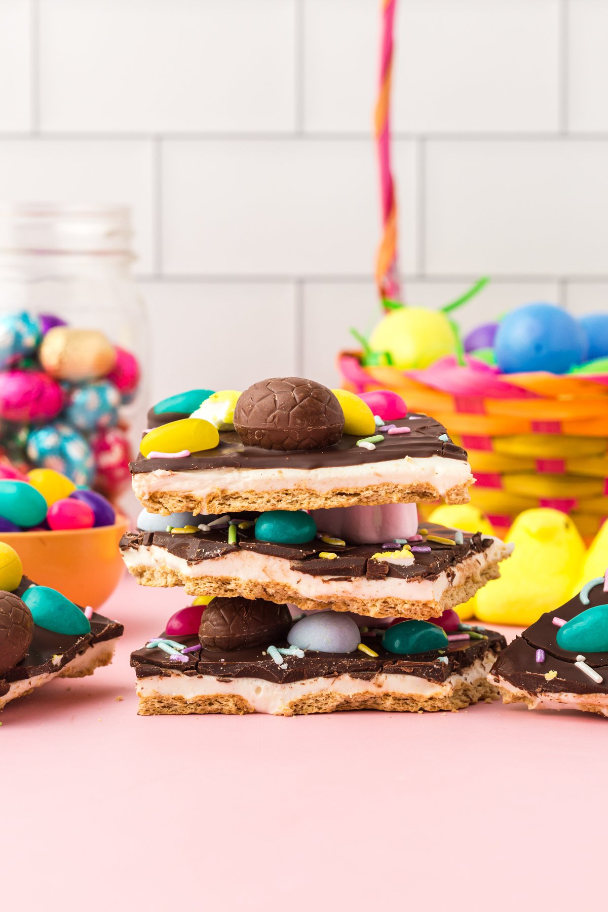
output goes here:
{"type": "Polygon", "coordinates": [[[39,358],[51,377],[78,383],[105,377],[116,363],[116,349],[98,329],[55,326],[46,333],[39,358]]]}

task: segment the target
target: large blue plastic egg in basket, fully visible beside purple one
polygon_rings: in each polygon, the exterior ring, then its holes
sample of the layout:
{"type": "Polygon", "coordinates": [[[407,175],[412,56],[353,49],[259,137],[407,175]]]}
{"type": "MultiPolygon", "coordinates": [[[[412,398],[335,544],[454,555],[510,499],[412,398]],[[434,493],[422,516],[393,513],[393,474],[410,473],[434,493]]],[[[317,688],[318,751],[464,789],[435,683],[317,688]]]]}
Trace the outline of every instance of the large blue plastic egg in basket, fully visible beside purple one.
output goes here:
{"type": "Polygon", "coordinates": [[[494,343],[506,374],[547,370],[564,374],[584,360],[587,339],[578,320],[554,304],[528,304],[507,314],[494,343]]]}

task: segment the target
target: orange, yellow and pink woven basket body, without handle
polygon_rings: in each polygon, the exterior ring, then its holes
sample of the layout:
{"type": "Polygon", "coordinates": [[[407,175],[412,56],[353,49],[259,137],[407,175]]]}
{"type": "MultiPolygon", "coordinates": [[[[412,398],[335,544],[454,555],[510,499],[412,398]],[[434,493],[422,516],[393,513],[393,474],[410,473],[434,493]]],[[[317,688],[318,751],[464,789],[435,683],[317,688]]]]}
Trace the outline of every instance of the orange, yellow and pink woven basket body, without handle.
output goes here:
{"type": "Polygon", "coordinates": [[[608,375],[500,374],[443,359],[424,370],[338,356],[342,386],[392,389],[432,415],[469,452],[471,503],[504,532],[530,507],[572,515],[589,540],[608,516],[608,375]]]}

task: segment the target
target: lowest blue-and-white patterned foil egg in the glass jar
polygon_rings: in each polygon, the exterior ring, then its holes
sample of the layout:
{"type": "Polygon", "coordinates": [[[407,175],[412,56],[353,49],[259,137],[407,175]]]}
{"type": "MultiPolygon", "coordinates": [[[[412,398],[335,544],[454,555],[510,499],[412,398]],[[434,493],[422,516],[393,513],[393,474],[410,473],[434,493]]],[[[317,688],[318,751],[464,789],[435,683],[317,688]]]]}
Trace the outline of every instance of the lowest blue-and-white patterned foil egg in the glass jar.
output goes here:
{"type": "Polygon", "coordinates": [[[27,435],[27,458],[36,466],[55,469],[71,478],[75,484],[90,484],[95,473],[95,461],[87,440],[58,422],[31,430],[27,435]]]}

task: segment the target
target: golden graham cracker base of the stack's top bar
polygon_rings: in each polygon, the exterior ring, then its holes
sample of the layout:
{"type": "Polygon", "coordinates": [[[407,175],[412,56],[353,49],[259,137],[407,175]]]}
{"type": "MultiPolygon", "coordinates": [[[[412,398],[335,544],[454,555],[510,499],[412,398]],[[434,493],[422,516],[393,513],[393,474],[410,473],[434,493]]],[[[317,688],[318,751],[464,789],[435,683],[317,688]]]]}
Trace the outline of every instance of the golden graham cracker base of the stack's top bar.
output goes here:
{"type": "MultiPolygon", "coordinates": [[[[473,483],[473,479],[470,479],[473,483]]],[[[135,490],[135,489],[134,489],[135,490]]],[[[307,488],[283,488],[280,491],[231,492],[217,490],[205,495],[191,492],[154,491],[148,497],[135,495],[149,513],[238,513],[242,510],[324,510],[330,507],[372,506],[383,503],[469,503],[469,488],[459,484],[444,495],[432,484],[375,484],[365,488],[339,488],[318,492],[307,488]]]]}

